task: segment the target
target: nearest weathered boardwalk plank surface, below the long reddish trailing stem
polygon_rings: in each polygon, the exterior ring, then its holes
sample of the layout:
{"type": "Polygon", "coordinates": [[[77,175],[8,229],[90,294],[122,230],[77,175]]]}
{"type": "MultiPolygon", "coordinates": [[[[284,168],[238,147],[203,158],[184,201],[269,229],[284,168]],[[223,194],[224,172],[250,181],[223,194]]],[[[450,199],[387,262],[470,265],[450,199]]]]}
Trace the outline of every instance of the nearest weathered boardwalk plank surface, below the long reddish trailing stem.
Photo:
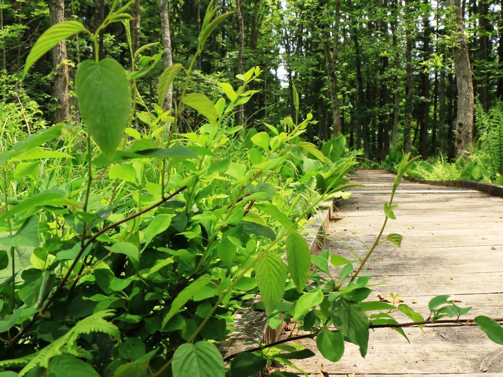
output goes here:
{"type": "MultiPolygon", "coordinates": [[[[479,373],[483,365],[487,373],[503,375],[503,347],[492,343],[475,327],[407,328],[404,330],[410,344],[396,331],[376,329],[370,334],[368,354],[360,356],[358,347],[346,342],[343,358],[337,363],[324,359],[314,341],[297,341],[311,349],[316,356],[295,360],[295,364],[310,373],[323,370],[329,374],[358,373],[428,374],[479,373]]],[[[290,368],[282,370],[294,371],[290,368]]],[[[444,374],[445,375],[445,374],[444,374]]]]}

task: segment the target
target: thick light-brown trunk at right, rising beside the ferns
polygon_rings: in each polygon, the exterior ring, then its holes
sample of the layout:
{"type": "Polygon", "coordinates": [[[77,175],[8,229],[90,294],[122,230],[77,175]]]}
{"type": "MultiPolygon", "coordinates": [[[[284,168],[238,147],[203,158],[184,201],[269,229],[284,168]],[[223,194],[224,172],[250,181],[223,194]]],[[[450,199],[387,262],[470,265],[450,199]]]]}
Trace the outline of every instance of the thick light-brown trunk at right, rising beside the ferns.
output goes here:
{"type": "Polygon", "coordinates": [[[458,111],[455,121],[454,155],[471,153],[473,139],[473,83],[468,45],[466,43],[460,0],[450,0],[454,8],[453,47],[456,85],[458,88],[458,111]]]}

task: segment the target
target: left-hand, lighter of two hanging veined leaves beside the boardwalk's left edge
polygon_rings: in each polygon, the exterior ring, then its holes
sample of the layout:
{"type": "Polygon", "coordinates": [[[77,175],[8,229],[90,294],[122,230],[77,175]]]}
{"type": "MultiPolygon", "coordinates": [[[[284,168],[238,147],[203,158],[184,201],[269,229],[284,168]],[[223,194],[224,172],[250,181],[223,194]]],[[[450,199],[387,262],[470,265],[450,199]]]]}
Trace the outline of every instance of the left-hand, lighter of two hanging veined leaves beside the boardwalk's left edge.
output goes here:
{"type": "Polygon", "coordinates": [[[270,315],[283,297],[287,267],[278,255],[268,253],[257,262],[255,270],[262,301],[270,315]]]}

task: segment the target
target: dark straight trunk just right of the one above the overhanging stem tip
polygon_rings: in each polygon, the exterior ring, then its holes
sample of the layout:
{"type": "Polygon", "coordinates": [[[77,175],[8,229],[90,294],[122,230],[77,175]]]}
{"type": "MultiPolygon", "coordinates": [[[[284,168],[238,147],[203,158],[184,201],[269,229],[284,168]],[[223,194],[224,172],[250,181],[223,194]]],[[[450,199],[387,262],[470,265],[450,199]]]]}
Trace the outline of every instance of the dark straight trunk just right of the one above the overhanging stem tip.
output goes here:
{"type": "MultiPolygon", "coordinates": [[[[423,62],[425,67],[430,59],[430,39],[431,39],[431,27],[430,27],[430,7],[429,0],[424,0],[423,5],[425,7],[425,14],[423,15],[423,62]]],[[[423,97],[423,102],[421,104],[421,127],[419,135],[419,151],[423,156],[423,159],[428,158],[428,128],[430,123],[430,74],[422,70],[421,72],[421,96],[423,97]]]]}

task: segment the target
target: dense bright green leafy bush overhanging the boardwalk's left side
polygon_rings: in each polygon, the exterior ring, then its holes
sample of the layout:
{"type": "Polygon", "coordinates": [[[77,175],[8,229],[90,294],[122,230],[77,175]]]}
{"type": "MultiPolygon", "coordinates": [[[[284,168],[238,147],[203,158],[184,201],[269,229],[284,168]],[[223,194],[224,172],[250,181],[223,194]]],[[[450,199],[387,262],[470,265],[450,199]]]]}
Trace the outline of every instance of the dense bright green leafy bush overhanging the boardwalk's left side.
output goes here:
{"type": "MultiPolygon", "coordinates": [[[[50,28],[26,69],[74,33],[88,32],[96,44],[102,27],[130,18],[117,4],[95,34],[78,22],[50,28]]],[[[226,98],[215,104],[187,93],[197,55],[227,16],[216,12],[210,4],[174,115],[162,105],[181,65],[161,74],[158,103],[150,108],[132,90],[141,68],[126,72],[110,58],[85,60],[75,77],[85,128],[58,124],[0,155],[4,375],[223,376],[215,343],[257,293],[271,326],[297,322],[331,361],[342,357],[345,341],[364,356],[369,329],[396,324],[393,311],[423,319],[406,305],[362,303],[371,278],[360,273],[380,236],[363,260],[347,260],[311,256],[299,233],[320,202],[351,187],[345,175],[355,153],[347,153],[343,136],[321,151],[304,141],[310,114],[266,125],[267,132],[234,126],[234,109],[254,95],[246,87],[259,79],[258,67],[239,75],[238,88],[219,83],[226,98]],[[181,132],[186,106],[205,121],[181,132]],[[136,120],[142,126],[131,127],[136,120]],[[340,267],[338,276],[330,276],[328,261],[340,267]]],[[[380,234],[395,218],[393,196],[410,163],[405,155],[397,166],[380,234]]],[[[386,240],[399,246],[401,236],[386,240]]],[[[435,321],[459,319],[469,309],[441,296],[430,310],[435,321]]],[[[489,333],[501,330],[486,317],[476,321],[489,333]]],[[[283,347],[286,354],[271,356],[264,347],[236,356],[230,373],[250,375],[273,359],[312,355],[283,347]]]]}

